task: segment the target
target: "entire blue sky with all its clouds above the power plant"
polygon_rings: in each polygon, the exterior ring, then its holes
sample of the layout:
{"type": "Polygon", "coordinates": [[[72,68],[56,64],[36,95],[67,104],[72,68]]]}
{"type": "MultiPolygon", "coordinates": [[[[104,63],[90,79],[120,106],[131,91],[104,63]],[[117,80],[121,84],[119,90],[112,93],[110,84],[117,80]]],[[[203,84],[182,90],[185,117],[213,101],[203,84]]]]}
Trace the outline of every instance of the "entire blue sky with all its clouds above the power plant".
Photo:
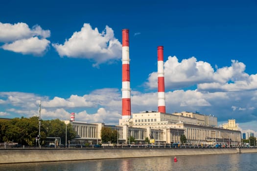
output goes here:
{"type": "Polygon", "coordinates": [[[199,111],[257,131],[256,0],[0,2],[0,117],[118,124],[121,30],[130,30],[132,112],[199,111]]]}

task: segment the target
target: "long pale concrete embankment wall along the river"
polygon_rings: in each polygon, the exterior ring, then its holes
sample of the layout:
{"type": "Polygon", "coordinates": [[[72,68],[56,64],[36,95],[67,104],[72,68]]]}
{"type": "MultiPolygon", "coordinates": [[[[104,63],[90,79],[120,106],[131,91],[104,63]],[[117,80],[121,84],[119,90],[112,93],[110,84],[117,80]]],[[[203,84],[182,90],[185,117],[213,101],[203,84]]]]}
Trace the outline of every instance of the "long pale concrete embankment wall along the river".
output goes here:
{"type": "Polygon", "coordinates": [[[257,149],[21,149],[0,150],[0,164],[257,152],[257,149]]]}

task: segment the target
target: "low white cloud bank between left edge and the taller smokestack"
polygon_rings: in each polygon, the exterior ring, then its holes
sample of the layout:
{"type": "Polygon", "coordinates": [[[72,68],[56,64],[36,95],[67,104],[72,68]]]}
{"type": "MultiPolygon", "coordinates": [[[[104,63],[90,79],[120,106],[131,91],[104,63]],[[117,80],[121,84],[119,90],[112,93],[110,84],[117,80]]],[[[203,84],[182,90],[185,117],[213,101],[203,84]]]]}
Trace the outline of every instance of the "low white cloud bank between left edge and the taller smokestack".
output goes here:
{"type": "Polygon", "coordinates": [[[118,124],[118,119],[121,117],[119,114],[121,97],[116,88],[98,89],[84,96],[71,95],[67,99],[60,97],[49,99],[33,93],[0,92],[0,116],[38,116],[40,99],[43,119],[66,120],[70,118],[70,112],[74,112],[74,110],[77,111],[75,120],[89,123],[115,125],[118,124]],[[1,111],[2,106],[8,107],[5,108],[5,111],[1,111]],[[88,113],[87,108],[94,108],[96,113],[88,113]]]}

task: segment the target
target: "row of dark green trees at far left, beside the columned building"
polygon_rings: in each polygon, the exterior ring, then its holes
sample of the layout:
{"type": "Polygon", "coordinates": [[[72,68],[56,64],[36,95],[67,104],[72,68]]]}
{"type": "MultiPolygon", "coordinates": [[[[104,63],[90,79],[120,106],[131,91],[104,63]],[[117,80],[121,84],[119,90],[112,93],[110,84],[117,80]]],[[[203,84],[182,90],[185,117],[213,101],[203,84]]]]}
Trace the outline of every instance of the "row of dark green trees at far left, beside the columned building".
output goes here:
{"type": "MultiPolygon", "coordinates": [[[[60,137],[65,144],[66,125],[59,119],[43,120],[40,127],[40,145],[47,145],[47,137],[60,137]]],[[[75,138],[76,132],[67,125],[67,141],[75,138]]],[[[0,120],[0,142],[12,141],[21,145],[36,146],[39,137],[39,117],[0,120]]]]}

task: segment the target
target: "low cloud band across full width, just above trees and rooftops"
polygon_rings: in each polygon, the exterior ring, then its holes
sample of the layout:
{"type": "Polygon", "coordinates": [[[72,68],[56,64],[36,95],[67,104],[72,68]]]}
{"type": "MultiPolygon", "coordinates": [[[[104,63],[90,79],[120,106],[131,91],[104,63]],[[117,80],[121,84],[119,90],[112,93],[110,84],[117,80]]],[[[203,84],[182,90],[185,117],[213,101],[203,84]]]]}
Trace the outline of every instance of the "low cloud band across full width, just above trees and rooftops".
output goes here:
{"type": "MultiPolygon", "coordinates": [[[[158,110],[157,92],[132,91],[131,94],[132,112],[158,110]]],[[[219,122],[234,118],[241,125],[241,123],[257,121],[256,95],[256,90],[247,92],[168,91],[165,94],[166,111],[172,113],[197,110],[202,114],[215,115],[219,122]]],[[[76,121],[117,125],[118,119],[121,118],[121,92],[117,88],[98,89],[83,96],[71,95],[67,99],[61,97],[49,99],[32,93],[0,92],[0,115],[6,117],[7,114],[8,117],[38,115],[40,99],[43,119],[65,120],[70,117],[70,112],[75,112],[76,121]],[[5,109],[1,110],[2,107],[5,109]]],[[[248,125],[248,128],[256,130],[254,127],[248,125]]]]}

